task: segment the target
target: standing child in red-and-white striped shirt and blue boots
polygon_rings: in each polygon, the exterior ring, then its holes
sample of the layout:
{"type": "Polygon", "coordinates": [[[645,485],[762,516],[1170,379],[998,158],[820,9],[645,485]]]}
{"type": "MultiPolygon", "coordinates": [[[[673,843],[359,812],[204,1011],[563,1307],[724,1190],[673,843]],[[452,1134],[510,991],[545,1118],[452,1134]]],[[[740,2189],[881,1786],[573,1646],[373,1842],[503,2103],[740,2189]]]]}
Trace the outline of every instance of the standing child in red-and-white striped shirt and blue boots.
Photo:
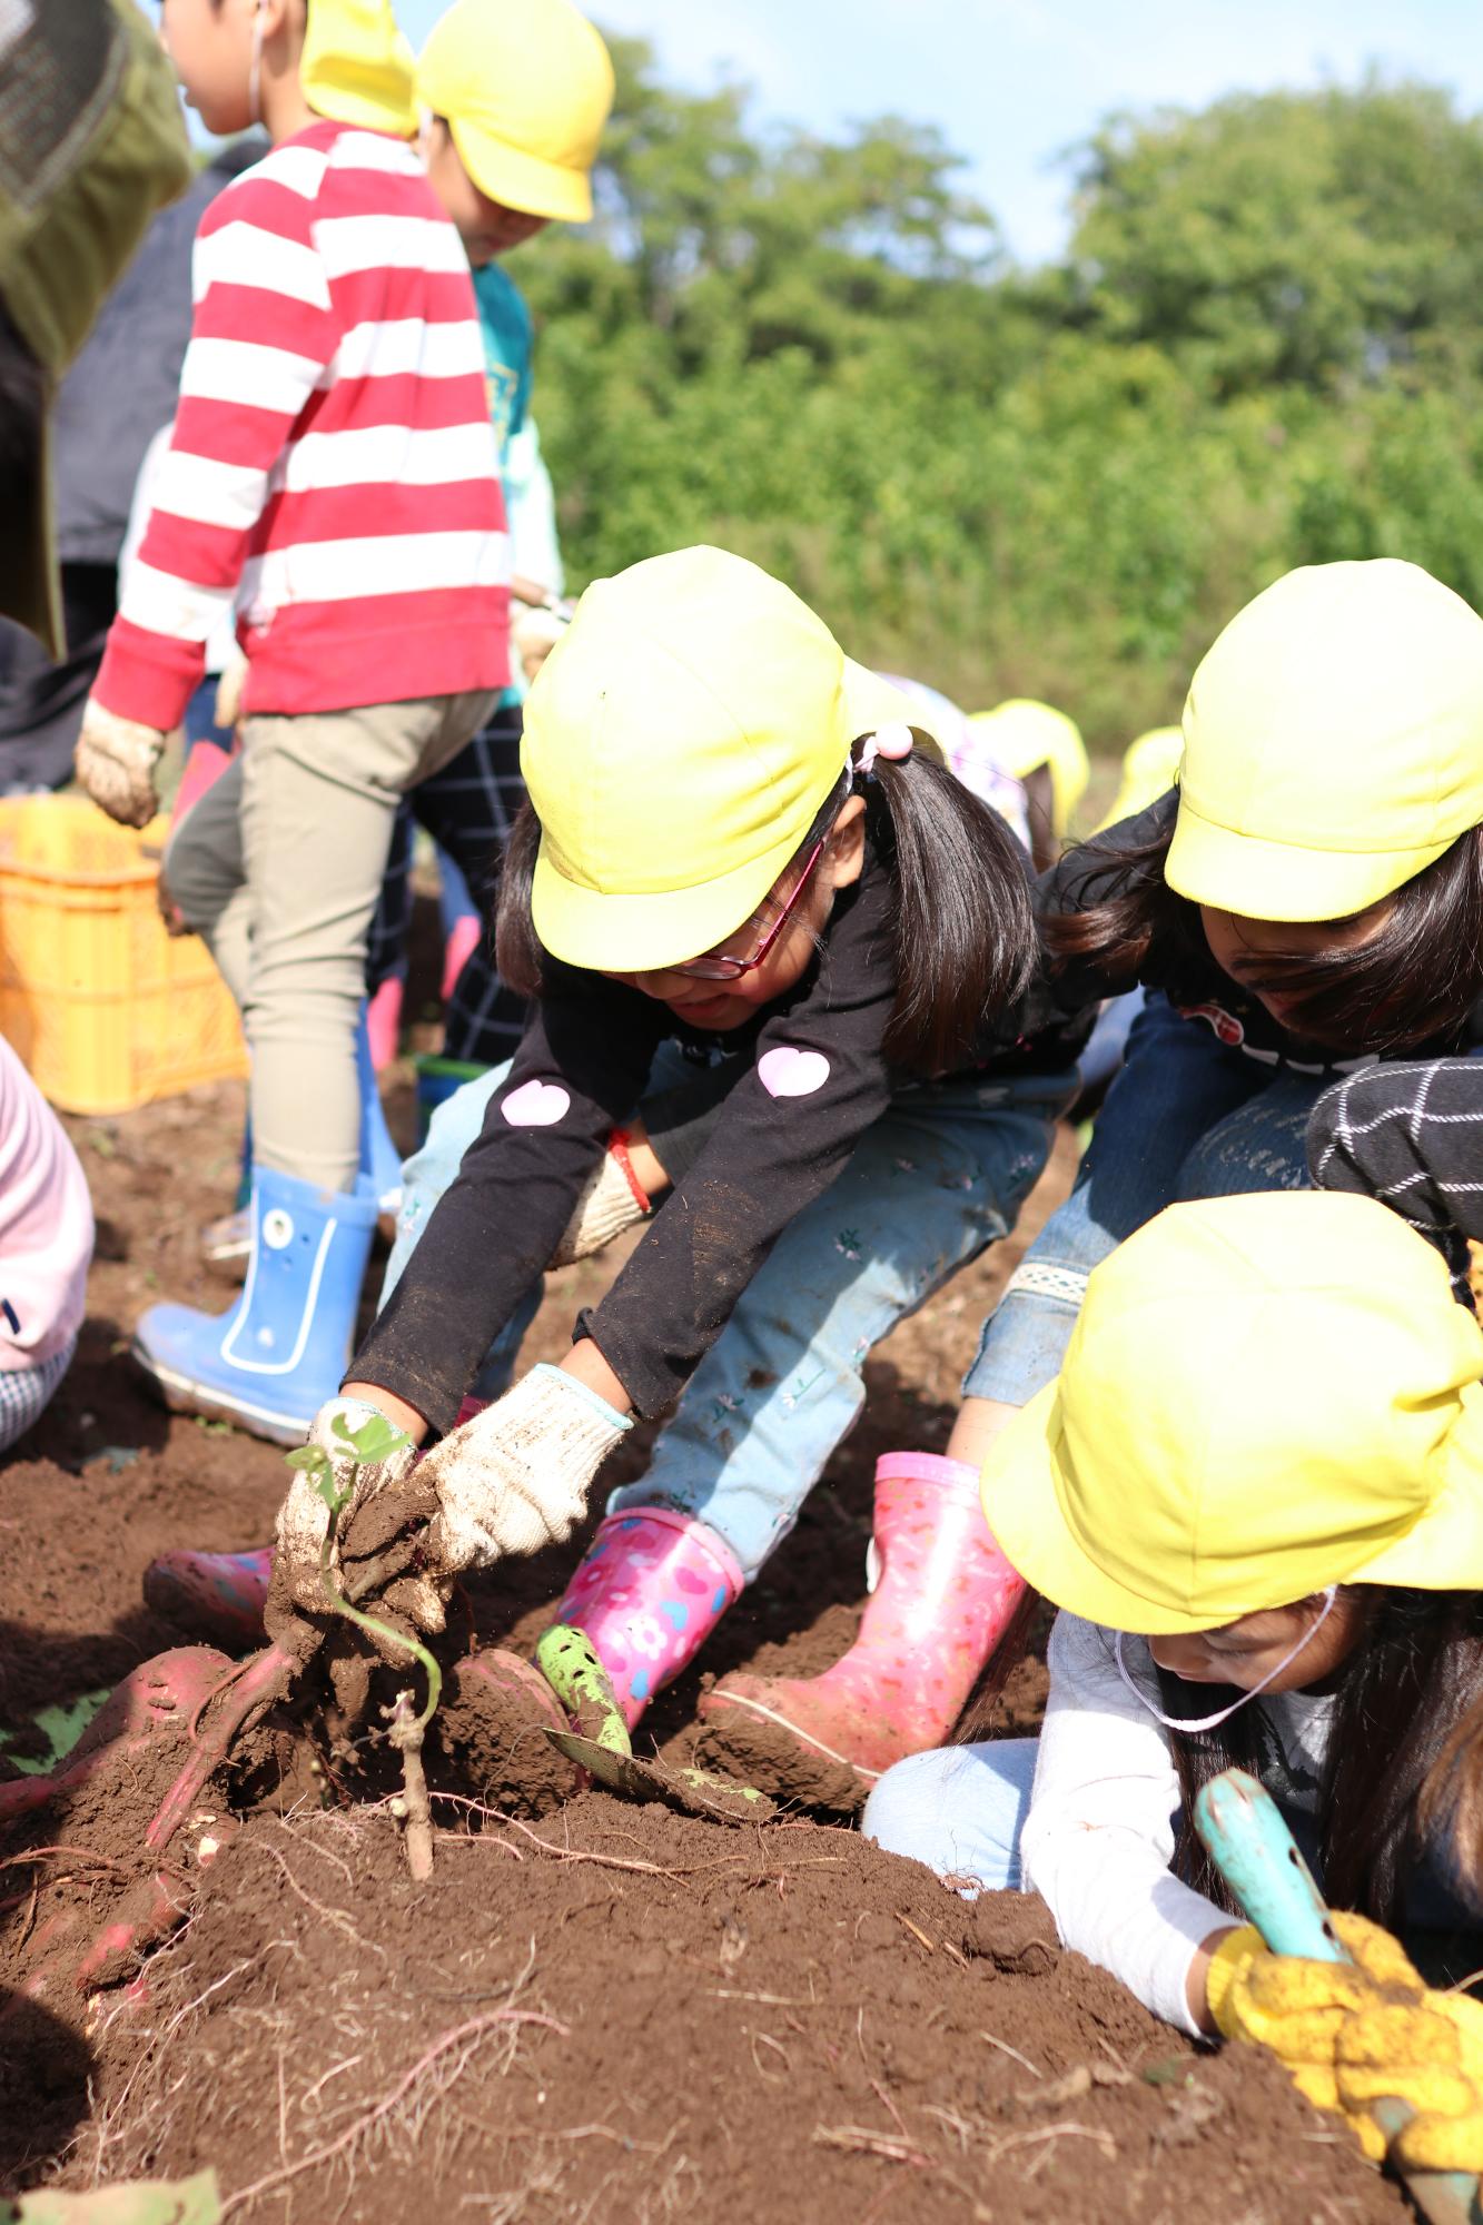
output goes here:
{"type": "Polygon", "coordinates": [[[503,510],[390,7],[314,0],[305,31],[305,0],[165,0],[163,36],[205,125],[261,120],[272,151],[200,222],[174,445],[78,777],[149,819],[240,583],[243,750],[183,830],[240,812],[245,879],[196,923],[252,1044],[254,1250],[225,1319],[154,1306],[134,1353],[169,1404],[292,1442],[341,1373],[376,1219],[356,1024],[396,801],[508,676],[503,510]]]}

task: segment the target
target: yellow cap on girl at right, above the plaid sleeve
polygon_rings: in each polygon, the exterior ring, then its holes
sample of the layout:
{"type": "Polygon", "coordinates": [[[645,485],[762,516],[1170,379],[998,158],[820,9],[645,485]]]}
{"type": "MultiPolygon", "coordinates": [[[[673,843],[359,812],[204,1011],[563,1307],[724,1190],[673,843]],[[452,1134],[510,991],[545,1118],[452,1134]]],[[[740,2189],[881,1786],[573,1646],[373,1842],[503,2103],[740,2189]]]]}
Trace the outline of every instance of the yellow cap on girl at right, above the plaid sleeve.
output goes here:
{"type": "Polygon", "coordinates": [[[1347,919],[1483,821],[1483,619],[1412,563],[1258,594],[1185,703],[1169,888],[1247,919],[1347,919]]]}

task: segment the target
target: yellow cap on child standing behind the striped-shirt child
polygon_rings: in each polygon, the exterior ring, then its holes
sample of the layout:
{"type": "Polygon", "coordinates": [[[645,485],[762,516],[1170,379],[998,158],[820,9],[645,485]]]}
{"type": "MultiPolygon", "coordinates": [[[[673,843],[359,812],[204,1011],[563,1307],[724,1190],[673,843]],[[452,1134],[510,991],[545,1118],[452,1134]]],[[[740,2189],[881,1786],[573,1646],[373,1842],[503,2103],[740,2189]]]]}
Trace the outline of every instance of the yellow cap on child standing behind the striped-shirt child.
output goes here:
{"type": "Polygon", "coordinates": [[[416,65],[465,171],[505,209],[583,225],[612,60],[570,0],[454,0],[416,65]]]}

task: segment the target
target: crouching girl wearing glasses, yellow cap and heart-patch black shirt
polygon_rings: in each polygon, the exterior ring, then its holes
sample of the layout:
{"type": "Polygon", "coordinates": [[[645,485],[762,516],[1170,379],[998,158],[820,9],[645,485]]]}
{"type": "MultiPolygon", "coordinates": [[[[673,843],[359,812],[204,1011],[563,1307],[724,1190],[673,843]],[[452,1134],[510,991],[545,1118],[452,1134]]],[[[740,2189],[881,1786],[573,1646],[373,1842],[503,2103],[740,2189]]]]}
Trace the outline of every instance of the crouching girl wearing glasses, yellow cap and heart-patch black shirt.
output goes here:
{"type": "MultiPolygon", "coordinates": [[[[793,1529],[871,1346],[1013,1224],[1073,1032],[1020,1039],[1035,937],[1002,819],[897,690],[737,556],[686,550],[588,590],[532,688],[523,774],[497,939],[532,997],[526,1037],[410,1161],[381,1315],[312,1442],[334,1455],[334,1422],[372,1411],[441,1440],[416,1471],[430,1573],[387,1595],[439,1629],[459,1571],[570,1537],[632,1417],[684,1393],[559,1611],[632,1724],[793,1529]],[[543,1268],[641,1219],[561,1366],[503,1388],[543,1268]],[[503,1395],[461,1422],[470,1386],[503,1395]]],[[[407,1460],[345,1477],[365,1500],[407,1460]]],[[[969,1468],[882,1468],[888,1566],[853,1691],[873,1744],[864,1771],[824,1758],[842,1804],[946,1736],[1020,1598],[969,1468]]],[[[321,1537],[296,1482],[285,1613],[323,1606],[321,1537]]],[[[258,1598],[263,1560],[236,1564],[258,1598]]],[[[494,1673],[554,1720],[532,1669],[494,1673]]]]}

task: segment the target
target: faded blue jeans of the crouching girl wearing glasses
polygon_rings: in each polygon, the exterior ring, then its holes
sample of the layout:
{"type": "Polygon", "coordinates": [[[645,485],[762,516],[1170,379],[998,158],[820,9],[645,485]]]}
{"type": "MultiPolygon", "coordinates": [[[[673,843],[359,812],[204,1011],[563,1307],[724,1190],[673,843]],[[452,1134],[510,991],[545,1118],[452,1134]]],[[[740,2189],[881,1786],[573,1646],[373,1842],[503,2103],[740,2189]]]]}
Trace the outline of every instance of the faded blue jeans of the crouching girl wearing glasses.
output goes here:
{"type": "MultiPolygon", "coordinates": [[[[499,1066],[432,1115],[403,1170],[383,1302],[505,1079],[499,1066]]],[[[688,1068],[664,1046],[648,1092],[688,1068]]],[[[957,1075],[902,1090],[844,1173],[782,1233],[655,1444],[648,1475],[608,1500],[679,1506],[719,1531],[746,1580],[788,1535],[864,1404],[864,1359],[957,1268],[1009,1235],[1049,1157],[1076,1072],[957,1075]]],[[[534,1288],[490,1348],[481,1397],[510,1380],[534,1288]]]]}

